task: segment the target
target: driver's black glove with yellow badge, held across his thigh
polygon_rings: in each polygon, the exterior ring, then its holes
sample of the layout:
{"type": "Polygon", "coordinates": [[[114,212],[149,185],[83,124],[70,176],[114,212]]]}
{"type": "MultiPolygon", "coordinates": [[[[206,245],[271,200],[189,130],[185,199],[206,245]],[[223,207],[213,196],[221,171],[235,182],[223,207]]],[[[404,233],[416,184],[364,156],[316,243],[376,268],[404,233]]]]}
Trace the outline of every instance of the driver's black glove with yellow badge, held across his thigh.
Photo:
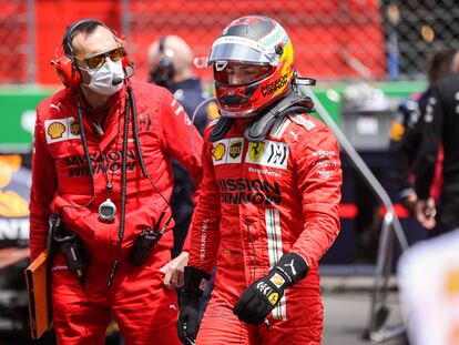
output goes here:
{"type": "Polygon", "coordinates": [[[248,286],[233,313],[247,324],[259,324],[274,310],[285,288],[303,280],[308,271],[306,261],[296,253],[284,254],[267,275],[248,286]]]}

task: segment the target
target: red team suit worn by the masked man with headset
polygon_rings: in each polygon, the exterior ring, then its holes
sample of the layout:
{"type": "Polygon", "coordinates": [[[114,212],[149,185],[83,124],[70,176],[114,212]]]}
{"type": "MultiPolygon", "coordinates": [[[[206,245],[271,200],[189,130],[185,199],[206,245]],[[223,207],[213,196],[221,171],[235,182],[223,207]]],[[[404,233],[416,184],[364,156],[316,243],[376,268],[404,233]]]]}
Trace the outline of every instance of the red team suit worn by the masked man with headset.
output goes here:
{"type": "MultiPolygon", "coordinates": [[[[153,227],[163,210],[162,224],[171,215],[167,202],[173,187],[171,156],[187,169],[196,187],[202,181],[202,138],[183,108],[163,88],[132,81],[136,104],[141,152],[150,177],[142,174],[129,123],[126,162],[125,226],[118,253],[121,215],[121,162],[126,85],[111,97],[105,133],[100,136],[83,109],[93,189],[78,122],[75,94],[64,89],[41,102],[37,110],[30,197],[30,248],[35,258],[45,247],[48,219],[60,213],[63,227],[74,231],[90,256],[85,291],[73,272],[67,270],[62,253],[53,262],[52,303],[58,339],[62,344],[103,344],[113,315],[126,344],[180,344],[175,337],[177,317],[175,291],[163,287],[159,271],[171,260],[172,227],[169,229],[143,266],[128,256],[145,227],[153,227]],[[108,199],[116,205],[112,223],[99,219],[99,205],[108,199]],[[167,202],[166,202],[167,201],[167,202]],[[120,264],[112,287],[101,298],[114,260],[120,264]]],[[[83,104],[82,104],[83,105],[83,104]]],[[[132,104],[129,104],[130,106],[132,104]]]]}

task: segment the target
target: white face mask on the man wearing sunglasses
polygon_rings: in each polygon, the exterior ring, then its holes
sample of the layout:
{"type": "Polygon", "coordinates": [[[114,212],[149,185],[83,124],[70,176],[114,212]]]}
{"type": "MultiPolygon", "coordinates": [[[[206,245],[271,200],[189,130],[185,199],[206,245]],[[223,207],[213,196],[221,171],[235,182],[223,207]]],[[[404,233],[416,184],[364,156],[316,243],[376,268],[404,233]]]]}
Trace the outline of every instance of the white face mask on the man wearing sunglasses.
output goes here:
{"type": "Polygon", "coordinates": [[[113,85],[114,79],[124,80],[124,71],[121,60],[113,62],[108,58],[100,69],[84,71],[91,77],[91,82],[89,84],[83,83],[83,85],[95,93],[112,95],[123,87],[122,82],[113,85]]]}

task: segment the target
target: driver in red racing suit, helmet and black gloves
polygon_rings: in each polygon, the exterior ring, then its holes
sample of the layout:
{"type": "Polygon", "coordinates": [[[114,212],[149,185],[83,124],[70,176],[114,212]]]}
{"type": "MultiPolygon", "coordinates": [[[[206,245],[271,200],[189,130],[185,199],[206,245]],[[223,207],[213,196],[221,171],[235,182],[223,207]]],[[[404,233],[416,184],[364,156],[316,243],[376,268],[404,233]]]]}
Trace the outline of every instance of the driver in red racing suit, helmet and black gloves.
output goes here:
{"type": "Polygon", "coordinates": [[[207,63],[222,118],[204,133],[180,338],[318,345],[318,261],[339,231],[337,141],[308,115],[314,104],[297,92],[293,43],[278,22],[232,21],[207,63]],[[200,327],[198,298],[215,264],[200,327]]]}

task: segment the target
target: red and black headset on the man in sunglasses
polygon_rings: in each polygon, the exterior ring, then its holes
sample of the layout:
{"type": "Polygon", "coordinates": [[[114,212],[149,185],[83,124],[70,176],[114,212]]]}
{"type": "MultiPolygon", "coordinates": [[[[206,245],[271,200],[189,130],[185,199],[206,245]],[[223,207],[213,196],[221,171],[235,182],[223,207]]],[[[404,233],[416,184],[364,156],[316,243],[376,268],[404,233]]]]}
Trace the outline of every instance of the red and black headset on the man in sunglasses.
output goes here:
{"type": "Polygon", "coordinates": [[[51,61],[51,64],[54,67],[55,72],[58,73],[59,79],[61,82],[69,88],[78,87],[81,83],[81,72],[78,68],[75,58],[73,55],[73,48],[71,44],[72,34],[75,32],[75,30],[83,26],[83,24],[98,24],[101,27],[104,27],[109,29],[115,40],[123,47],[125,55],[121,60],[121,63],[123,65],[124,72],[126,74],[126,78],[132,77],[134,74],[134,67],[133,62],[129,59],[129,51],[128,51],[128,43],[124,40],[124,37],[119,37],[118,33],[103,22],[96,19],[83,19],[80,21],[74,22],[73,24],[70,24],[62,39],[62,44],[55,50],[58,50],[62,47],[64,53],[61,57],[57,55],[55,60],[51,61]]]}

